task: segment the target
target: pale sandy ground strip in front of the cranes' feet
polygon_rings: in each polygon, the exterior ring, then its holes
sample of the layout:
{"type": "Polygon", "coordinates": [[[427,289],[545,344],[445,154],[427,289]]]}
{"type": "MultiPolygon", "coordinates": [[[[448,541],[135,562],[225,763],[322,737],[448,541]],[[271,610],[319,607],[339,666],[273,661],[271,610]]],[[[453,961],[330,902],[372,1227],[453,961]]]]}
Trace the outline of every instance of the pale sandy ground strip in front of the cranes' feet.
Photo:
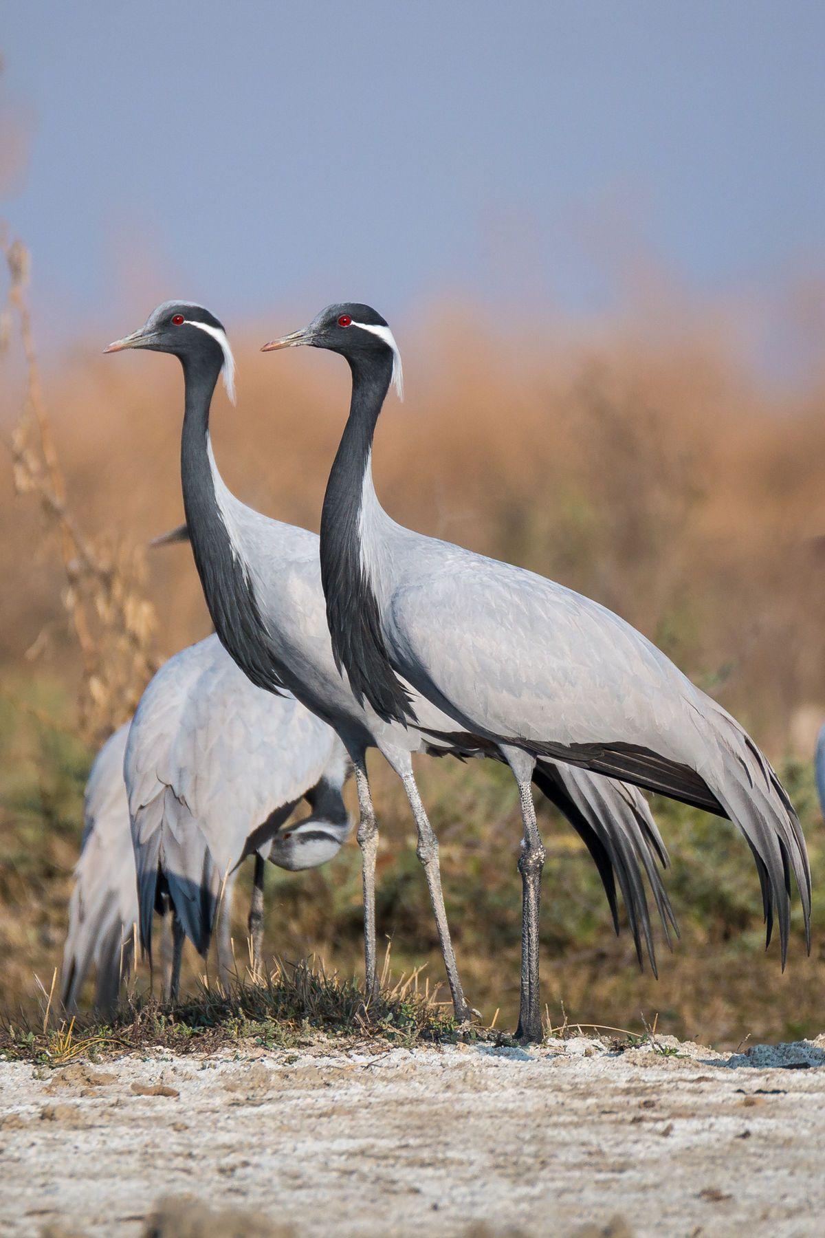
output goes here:
{"type": "Polygon", "coordinates": [[[659,1044],[0,1063],[0,1233],[821,1234],[825,1037],[659,1044]]]}

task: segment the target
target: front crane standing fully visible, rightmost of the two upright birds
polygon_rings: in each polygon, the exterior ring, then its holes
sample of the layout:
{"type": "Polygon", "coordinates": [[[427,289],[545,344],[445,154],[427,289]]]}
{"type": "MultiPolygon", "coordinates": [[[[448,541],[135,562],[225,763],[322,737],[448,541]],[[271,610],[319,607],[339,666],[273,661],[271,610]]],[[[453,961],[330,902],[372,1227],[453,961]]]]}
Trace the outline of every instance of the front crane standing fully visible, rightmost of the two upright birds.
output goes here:
{"type": "Polygon", "coordinates": [[[263,352],[340,353],[353,380],[329,475],[320,568],[336,664],[355,696],[443,743],[492,744],[518,784],[524,842],[518,1035],[541,1039],[538,911],[545,853],[531,779],[552,758],[729,817],[753,852],[784,966],[790,872],[808,935],[810,872],[799,821],[753,740],[639,633],[560,584],[396,524],[372,485],[372,438],[401,358],[387,322],[333,305],[263,352]],[[413,692],[419,693],[414,697],[413,692]],[[427,699],[448,718],[433,728],[427,699]]]}

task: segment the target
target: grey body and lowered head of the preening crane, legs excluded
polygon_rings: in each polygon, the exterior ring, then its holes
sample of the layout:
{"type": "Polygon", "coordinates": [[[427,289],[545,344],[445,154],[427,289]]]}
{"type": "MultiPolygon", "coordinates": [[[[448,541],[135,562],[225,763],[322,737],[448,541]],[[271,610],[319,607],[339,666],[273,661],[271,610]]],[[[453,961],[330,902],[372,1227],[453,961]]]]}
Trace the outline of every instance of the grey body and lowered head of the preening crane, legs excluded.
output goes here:
{"type": "Polygon", "coordinates": [[[325,863],[349,832],[346,774],[334,732],[289,693],[255,687],[216,636],[171,657],[140,699],[124,761],[145,947],[158,878],[205,953],[221,891],[245,855],[284,868],[325,863]],[[313,815],[276,838],[304,796],[313,815]],[[319,832],[325,848],[310,837],[319,832]]]}

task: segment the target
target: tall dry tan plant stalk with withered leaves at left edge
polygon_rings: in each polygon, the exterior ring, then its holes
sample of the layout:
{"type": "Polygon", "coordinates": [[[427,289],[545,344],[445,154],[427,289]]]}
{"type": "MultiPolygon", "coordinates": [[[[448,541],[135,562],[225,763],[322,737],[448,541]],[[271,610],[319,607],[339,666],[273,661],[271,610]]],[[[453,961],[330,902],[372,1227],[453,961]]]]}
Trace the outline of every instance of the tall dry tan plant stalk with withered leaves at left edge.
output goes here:
{"type": "MultiPolygon", "coordinates": [[[[1,241],[10,284],[0,347],[9,345],[11,321],[16,319],[26,360],[24,402],[11,439],[15,490],[37,499],[46,527],[59,545],[67,579],[62,602],[83,661],[78,729],[88,743],[96,744],[134,712],[157,670],[152,651],[156,614],[145,594],[146,556],[141,547],[114,535],[88,537],[69,510],[26,300],[30,255],[5,232],[1,241]]],[[[45,628],[28,656],[41,654],[47,641],[45,628]]]]}

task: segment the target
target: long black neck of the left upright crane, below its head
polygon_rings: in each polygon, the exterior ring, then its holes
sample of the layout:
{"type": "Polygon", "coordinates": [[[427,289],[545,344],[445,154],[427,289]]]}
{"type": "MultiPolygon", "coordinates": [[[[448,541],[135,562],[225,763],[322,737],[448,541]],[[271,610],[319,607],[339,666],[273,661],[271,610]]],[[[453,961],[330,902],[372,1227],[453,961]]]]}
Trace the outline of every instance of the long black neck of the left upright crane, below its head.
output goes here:
{"type": "Polygon", "coordinates": [[[204,598],[221,645],[257,687],[283,686],[252,587],[242,547],[233,540],[235,500],[218,472],[209,443],[209,409],[220,360],[183,361],[186,389],[181,436],[183,509],[204,598]]]}

